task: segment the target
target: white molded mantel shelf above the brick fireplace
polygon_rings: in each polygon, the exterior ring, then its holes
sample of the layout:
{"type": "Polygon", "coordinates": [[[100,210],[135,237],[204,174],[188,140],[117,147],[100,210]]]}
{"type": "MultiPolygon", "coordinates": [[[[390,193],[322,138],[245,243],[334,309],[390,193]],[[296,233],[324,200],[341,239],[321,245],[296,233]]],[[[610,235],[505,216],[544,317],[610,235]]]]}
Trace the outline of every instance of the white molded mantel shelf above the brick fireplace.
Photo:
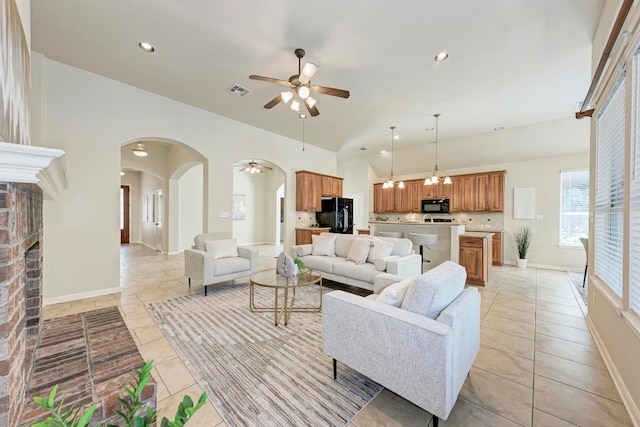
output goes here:
{"type": "Polygon", "coordinates": [[[0,181],[38,184],[45,198],[67,188],[64,151],[0,141],[0,181]]]}

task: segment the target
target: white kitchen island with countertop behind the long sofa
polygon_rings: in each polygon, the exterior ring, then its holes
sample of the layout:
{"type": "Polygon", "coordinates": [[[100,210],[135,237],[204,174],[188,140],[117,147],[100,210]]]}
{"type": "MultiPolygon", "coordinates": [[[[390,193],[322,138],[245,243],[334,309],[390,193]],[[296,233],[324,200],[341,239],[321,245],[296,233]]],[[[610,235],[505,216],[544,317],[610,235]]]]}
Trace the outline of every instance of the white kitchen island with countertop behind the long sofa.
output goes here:
{"type": "MultiPolygon", "coordinates": [[[[465,225],[457,222],[421,222],[421,221],[369,221],[372,235],[381,231],[402,232],[404,237],[409,233],[437,234],[438,242],[429,249],[424,248],[424,271],[427,271],[444,261],[460,262],[460,235],[465,232],[465,225]]],[[[415,247],[416,253],[420,248],[415,247]]]]}

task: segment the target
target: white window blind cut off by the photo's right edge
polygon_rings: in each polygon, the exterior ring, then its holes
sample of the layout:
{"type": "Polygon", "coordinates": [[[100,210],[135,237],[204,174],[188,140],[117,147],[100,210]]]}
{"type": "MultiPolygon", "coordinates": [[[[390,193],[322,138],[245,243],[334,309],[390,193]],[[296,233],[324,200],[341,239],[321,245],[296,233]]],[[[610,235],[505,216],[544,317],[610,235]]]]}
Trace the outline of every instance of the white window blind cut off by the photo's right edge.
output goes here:
{"type": "Polygon", "coordinates": [[[633,57],[631,197],[629,200],[629,308],[640,314],[640,54],[633,57]]]}

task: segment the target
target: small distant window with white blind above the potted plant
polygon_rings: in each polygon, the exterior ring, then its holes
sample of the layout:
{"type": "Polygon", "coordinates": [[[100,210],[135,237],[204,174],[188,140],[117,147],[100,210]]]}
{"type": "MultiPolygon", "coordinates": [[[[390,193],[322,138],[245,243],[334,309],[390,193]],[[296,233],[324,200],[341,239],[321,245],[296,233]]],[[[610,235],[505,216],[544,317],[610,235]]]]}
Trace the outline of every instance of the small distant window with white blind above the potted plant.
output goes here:
{"type": "Polygon", "coordinates": [[[589,237],[589,171],[562,171],[559,243],[581,246],[580,237],[589,237]]]}

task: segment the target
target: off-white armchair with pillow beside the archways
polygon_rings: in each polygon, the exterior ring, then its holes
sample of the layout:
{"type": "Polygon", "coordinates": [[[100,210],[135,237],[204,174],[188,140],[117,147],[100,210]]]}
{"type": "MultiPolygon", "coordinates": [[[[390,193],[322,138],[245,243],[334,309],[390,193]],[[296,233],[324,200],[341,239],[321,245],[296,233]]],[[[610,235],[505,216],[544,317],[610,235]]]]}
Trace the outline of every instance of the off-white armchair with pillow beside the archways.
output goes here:
{"type": "Polygon", "coordinates": [[[258,270],[258,250],[237,247],[229,232],[198,234],[195,245],[184,250],[184,274],[207,287],[247,277],[258,270]]]}

